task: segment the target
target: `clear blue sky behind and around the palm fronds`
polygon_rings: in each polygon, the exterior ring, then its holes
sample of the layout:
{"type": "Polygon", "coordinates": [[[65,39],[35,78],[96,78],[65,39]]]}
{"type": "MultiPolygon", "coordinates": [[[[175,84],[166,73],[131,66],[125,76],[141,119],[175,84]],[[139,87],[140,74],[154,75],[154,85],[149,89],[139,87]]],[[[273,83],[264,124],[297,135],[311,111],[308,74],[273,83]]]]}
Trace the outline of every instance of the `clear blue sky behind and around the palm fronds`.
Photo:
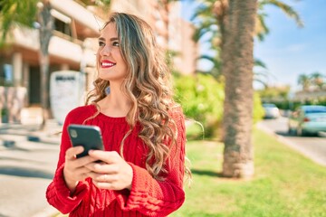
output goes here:
{"type": "MultiPolygon", "coordinates": [[[[182,2],[182,16],[189,19],[195,10],[195,0],[182,2]]],[[[255,69],[264,72],[262,79],[270,86],[290,85],[292,91],[300,90],[298,78],[300,74],[320,72],[326,76],[326,0],[283,0],[291,5],[301,16],[304,27],[297,26],[286,14],[269,5],[265,7],[267,14],[265,23],[270,33],[263,42],[254,42],[254,58],[263,61],[267,69],[255,69]]],[[[202,46],[202,53],[207,52],[202,46]]],[[[206,62],[199,63],[205,67],[206,62]]],[[[261,88],[254,82],[254,88],[261,88]]]]}

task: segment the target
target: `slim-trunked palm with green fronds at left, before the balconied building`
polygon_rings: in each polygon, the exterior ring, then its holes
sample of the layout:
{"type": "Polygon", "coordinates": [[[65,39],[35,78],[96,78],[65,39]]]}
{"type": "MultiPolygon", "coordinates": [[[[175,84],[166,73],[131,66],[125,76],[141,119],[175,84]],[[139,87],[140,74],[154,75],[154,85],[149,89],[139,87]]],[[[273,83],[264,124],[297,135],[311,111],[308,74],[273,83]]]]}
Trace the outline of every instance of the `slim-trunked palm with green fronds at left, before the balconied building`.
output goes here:
{"type": "Polygon", "coordinates": [[[1,29],[3,31],[2,43],[13,24],[23,24],[33,27],[35,18],[39,24],[40,42],[40,71],[41,71],[41,104],[43,108],[43,125],[49,116],[49,43],[53,33],[53,17],[51,5],[48,0],[9,0],[1,3],[1,29]],[[19,13],[17,13],[19,12],[19,13]]]}

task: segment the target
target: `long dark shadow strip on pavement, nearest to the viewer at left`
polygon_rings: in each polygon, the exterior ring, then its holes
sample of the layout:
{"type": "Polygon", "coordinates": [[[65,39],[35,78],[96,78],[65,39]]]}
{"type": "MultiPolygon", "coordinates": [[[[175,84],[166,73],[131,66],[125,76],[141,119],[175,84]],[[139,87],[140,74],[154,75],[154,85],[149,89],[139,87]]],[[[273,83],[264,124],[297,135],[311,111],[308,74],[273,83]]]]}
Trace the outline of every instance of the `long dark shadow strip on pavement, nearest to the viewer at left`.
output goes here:
{"type": "MultiPolygon", "coordinates": [[[[34,178],[45,178],[53,179],[53,174],[33,168],[23,168],[16,166],[0,166],[0,174],[2,175],[14,175],[22,177],[34,177],[34,178]]],[[[1,215],[0,215],[1,217],[1,215]]]]}

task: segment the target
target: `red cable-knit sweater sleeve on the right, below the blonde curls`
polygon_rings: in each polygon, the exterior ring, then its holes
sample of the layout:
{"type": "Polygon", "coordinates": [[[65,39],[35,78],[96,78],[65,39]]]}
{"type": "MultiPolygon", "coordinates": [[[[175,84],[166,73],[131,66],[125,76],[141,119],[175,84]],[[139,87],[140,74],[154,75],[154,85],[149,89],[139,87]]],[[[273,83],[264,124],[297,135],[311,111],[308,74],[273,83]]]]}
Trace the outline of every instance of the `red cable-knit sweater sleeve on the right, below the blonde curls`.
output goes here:
{"type": "Polygon", "coordinates": [[[177,124],[177,144],[170,151],[167,179],[158,181],[146,169],[129,164],[133,170],[132,187],[129,195],[117,193],[121,210],[137,210],[147,216],[167,216],[184,203],[185,119],[180,110],[174,112],[173,118],[177,124]]]}

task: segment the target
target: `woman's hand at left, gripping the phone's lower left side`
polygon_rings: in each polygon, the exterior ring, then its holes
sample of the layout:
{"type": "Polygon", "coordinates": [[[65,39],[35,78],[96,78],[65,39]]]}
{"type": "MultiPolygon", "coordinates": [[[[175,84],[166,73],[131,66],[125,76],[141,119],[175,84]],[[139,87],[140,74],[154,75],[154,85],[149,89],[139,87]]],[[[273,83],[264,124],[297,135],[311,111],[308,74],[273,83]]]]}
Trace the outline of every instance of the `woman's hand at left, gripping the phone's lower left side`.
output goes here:
{"type": "Polygon", "coordinates": [[[81,154],[82,151],[82,146],[72,146],[65,154],[63,177],[71,193],[74,192],[79,181],[82,181],[89,176],[88,173],[90,170],[84,165],[88,165],[95,160],[91,156],[76,158],[76,156],[81,154]]]}

